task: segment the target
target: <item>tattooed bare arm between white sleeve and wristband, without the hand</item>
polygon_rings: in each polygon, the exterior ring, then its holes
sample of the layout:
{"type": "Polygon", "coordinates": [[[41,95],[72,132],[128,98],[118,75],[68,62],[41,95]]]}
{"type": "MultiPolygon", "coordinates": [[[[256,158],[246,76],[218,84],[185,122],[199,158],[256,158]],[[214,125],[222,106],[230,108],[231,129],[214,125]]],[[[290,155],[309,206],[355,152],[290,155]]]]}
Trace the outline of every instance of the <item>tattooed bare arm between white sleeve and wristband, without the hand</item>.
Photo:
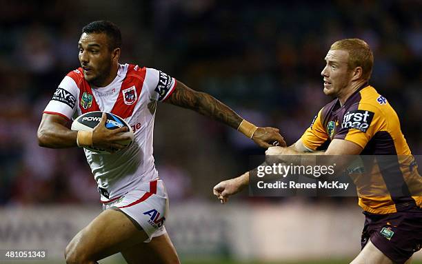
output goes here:
{"type": "Polygon", "coordinates": [[[221,121],[232,128],[237,129],[243,120],[239,114],[231,110],[227,105],[221,103],[210,94],[197,92],[183,83],[178,82],[172,95],[168,98],[168,103],[189,108],[212,119],[221,121]]]}

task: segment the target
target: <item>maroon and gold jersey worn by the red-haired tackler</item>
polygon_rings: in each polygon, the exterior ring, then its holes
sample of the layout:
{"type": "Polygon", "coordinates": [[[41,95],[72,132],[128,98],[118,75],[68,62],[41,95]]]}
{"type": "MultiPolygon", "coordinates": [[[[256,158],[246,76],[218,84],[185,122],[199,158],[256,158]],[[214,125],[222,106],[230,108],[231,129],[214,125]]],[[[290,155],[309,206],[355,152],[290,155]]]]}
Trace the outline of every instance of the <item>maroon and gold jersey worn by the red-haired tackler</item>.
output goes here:
{"type": "Polygon", "coordinates": [[[332,139],[356,143],[363,148],[361,155],[390,155],[374,161],[370,181],[363,178],[368,174],[352,177],[363,210],[389,214],[414,205],[421,207],[422,196],[412,194],[420,193],[422,177],[401,132],[399,117],[372,86],[363,85],[344,105],[338,99],[325,105],[301,137],[310,150],[326,150],[332,139]],[[383,170],[384,165],[388,170],[383,170]]]}

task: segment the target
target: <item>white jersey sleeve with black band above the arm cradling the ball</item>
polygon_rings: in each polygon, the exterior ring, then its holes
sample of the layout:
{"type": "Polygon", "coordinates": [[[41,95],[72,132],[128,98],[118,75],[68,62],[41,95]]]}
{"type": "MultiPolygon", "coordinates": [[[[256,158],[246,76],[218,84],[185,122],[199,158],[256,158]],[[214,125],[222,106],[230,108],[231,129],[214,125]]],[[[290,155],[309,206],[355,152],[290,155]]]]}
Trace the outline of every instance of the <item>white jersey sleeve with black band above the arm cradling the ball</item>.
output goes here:
{"type": "Polygon", "coordinates": [[[78,90],[71,77],[64,77],[43,113],[58,114],[71,119],[77,109],[78,90]]]}

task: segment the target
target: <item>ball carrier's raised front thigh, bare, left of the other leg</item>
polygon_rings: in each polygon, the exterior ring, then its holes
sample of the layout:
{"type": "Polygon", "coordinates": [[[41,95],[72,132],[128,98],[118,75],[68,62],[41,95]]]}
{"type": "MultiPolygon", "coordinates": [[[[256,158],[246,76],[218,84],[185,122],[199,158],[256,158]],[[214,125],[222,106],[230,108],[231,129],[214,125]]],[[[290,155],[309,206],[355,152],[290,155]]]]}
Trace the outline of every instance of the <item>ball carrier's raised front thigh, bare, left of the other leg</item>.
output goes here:
{"type": "Polygon", "coordinates": [[[123,212],[106,210],[72,238],[66,254],[97,261],[146,238],[148,235],[137,229],[123,212]]]}

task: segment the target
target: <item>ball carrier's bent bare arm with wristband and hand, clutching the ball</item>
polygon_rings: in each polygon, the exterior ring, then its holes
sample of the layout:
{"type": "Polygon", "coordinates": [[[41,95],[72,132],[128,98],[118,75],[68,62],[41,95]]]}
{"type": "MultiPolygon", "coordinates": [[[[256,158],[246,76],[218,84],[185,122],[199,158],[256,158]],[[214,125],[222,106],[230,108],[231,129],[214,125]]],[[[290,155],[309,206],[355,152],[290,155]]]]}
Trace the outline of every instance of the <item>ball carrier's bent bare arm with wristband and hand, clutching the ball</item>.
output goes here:
{"type": "Polygon", "coordinates": [[[80,132],[66,127],[68,119],[57,114],[43,114],[38,128],[38,143],[44,148],[71,148],[84,145],[94,146],[104,150],[116,151],[125,148],[115,143],[130,139],[130,136],[120,134],[127,132],[127,128],[108,130],[105,127],[106,114],[103,113],[101,122],[92,132],[80,132]],[[78,144],[79,141],[79,144],[78,144]]]}

